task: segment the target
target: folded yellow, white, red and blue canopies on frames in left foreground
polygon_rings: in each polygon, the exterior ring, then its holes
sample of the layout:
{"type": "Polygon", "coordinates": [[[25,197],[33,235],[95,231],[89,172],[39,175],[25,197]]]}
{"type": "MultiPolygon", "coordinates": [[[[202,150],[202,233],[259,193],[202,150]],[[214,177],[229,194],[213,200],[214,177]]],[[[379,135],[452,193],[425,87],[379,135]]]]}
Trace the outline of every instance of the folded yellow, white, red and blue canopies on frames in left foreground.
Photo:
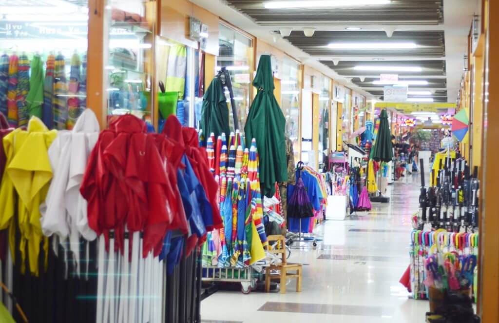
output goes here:
{"type": "Polygon", "coordinates": [[[1,259],[29,319],[199,320],[196,260],[223,225],[218,184],[197,131],[166,123],[147,133],[126,114],[99,133],[85,110],[72,131],[35,116],[2,130],[1,259]]]}

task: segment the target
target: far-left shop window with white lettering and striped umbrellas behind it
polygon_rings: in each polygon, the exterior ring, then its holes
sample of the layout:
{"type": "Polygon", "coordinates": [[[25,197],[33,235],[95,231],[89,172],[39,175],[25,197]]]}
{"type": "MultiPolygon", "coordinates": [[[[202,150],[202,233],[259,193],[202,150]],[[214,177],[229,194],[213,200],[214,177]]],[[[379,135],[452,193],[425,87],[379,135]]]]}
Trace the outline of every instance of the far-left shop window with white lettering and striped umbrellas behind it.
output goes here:
{"type": "Polygon", "coordinates": [[[0,112],[13,127],[37,116],[71,129],[86,107],[88,4],[15,2],[0,4],[0,112]]]}

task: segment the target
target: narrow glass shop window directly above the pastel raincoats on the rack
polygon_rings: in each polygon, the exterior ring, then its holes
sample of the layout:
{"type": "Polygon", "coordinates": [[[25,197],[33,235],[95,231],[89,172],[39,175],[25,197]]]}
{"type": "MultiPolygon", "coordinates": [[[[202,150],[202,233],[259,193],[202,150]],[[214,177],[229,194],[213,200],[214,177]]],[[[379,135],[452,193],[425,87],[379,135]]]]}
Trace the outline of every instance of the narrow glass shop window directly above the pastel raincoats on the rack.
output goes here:
{"type": "Polygon", "coordinates": [[[331,79],[322,76],[320,80],[319,93],[319,171],[324,169],[327,162],[329,150],[329,113],[330,113],[330,91],[331,79]]]}

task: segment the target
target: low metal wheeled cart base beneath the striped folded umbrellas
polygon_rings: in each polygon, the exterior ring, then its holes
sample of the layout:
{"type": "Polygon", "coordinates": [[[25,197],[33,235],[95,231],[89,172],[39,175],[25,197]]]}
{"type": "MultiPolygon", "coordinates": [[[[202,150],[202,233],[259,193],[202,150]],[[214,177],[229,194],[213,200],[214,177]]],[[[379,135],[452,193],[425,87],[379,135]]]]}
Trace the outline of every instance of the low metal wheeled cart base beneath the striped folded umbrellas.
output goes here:
{"type": "Polygon", "coordinates": [[[249,294],[255,287],[256,278],[253,278],[252,267],[224,267],[203,266],[203,281],[240,282],[243,294],[249,294]]]}

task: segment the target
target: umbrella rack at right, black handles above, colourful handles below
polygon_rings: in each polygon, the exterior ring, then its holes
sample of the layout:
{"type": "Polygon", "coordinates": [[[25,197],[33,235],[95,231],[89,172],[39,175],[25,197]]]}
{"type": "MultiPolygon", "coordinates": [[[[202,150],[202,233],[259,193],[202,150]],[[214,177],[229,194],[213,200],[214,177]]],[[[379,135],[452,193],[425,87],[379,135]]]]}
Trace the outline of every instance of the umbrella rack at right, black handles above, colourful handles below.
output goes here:
{"type": "MultiPolygon", "coordinates": [[[[452,153],[449,152],[448,155],[452,153]]],[[[419,197],[420,212],[412,233],[410,270],[401,282],[415,298],[426,299],[431,288],[468,290],[476,295],[478,254],[477,168],[470,176],[464,159],[437,159],[432,169],[434,183],[424,185],[419,197]]],[[[423,172],[423,161],[420,165],[423,172]]]]}

